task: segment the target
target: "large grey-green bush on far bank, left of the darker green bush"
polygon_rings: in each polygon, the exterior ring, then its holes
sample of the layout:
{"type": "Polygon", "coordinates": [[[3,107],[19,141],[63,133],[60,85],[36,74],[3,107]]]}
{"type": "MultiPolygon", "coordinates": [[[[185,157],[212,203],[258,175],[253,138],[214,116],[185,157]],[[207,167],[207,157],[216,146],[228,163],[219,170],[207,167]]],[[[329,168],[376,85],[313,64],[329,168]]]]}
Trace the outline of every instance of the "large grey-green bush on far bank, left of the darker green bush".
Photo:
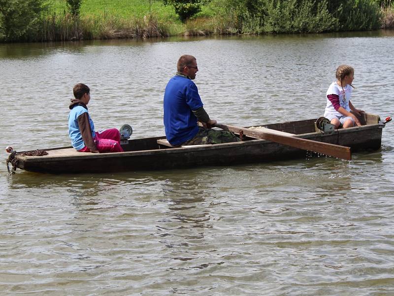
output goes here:
{"type": "Polygon", "coordinates": [[[216,10],[215,17],[225,20],[233,33],[319,33],[332,31],[337,26],[337,20],[327,9],[327,2],[213,0],[210,7],[216,10]]]}

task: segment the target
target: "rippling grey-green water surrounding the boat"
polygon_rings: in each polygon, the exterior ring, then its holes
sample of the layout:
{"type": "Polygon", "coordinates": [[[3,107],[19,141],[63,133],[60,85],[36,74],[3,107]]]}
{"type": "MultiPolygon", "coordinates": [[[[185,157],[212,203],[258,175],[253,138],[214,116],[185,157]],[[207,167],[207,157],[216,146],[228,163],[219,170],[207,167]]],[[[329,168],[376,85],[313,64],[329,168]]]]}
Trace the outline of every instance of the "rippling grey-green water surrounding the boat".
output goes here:
{"type": "MultiPolygon", "coordinates": [[[[68,146],[72,86],[97,128],[164,135],[163,92],[193,54],[211,118],[322,115],[342,63],[356,108],[394,114],[394,32],[0,44],[0,147],[68,146]]],[[[353,160],[100,175],[0,166],[1,295],[392,295],[394,129],[353,160]]]]}

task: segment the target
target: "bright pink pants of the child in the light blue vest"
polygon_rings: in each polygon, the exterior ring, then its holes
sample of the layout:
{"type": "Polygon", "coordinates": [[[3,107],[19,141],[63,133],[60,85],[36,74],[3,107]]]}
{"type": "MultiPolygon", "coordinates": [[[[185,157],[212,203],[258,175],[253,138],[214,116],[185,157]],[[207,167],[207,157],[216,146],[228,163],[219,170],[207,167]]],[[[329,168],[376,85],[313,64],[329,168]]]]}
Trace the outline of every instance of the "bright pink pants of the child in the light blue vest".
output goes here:
{"type": "MultiPolygon", "coordinates": [[[[96,132],[96,137],[93,139],[99,152],[123,152],[120,146],[120,133],[116,128],[96,132]]],[[[86,146],[80,152],[90,152],[86,146]]]]}

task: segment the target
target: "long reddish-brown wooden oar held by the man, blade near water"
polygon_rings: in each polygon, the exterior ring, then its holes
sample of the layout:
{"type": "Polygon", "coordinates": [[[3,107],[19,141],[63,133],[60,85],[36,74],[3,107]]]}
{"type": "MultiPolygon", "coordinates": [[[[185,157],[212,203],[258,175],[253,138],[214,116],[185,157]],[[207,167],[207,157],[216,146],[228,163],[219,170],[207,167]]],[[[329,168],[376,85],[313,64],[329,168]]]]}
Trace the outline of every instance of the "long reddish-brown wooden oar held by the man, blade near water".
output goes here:
{"type": "Polygon", "coordinates": [[[216,123],[214,126],[219,127],[223,130],[227,130],[234,133],[243,133],[245,136],[251,136],[258,139],[264,139],[271,142],[283,144],[290,147],[300,148],[304,150],[314,151],[322,154],[326,154],[329,156],[342,158],[346,160],[352,159],[352,153],[350,151],[350,147],[328,144],[324,142],[318,142],[313,140],[307,140],[297,137],[291,137],[287,135],[279,135],[275,133],[271,133],[269,131],[256,131],[250,130],[248,128],[242,128],[237,126],[225,125],[216,123]]]}

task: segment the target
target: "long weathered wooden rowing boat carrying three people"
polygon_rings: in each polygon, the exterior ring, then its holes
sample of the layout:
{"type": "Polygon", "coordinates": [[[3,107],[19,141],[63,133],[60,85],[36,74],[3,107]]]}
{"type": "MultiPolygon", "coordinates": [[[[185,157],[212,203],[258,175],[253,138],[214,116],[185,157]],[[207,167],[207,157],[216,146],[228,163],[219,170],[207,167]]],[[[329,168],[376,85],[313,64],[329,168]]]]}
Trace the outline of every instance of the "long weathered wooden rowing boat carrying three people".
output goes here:
{"type": "MultiPolygon", "coordinates": [[[[382,122],[378,115],[363,113],[362,126],[322,132],[316,119],[262,125],[278,134],[350,147],[376,150],[381,147],[382,122]]],[[[196,166],[229,166],[242,163],[267,162],[291,158],[305,158],[306,150],[281,145],[267,140],[244,136],[244,141],[216,145],[171,147],[165,137],[123,141],[125,152],[87,153],[72,147],[46,149],[48,155],[15,155],[17,167],[26,171],[75,174],[106,173],[138,170],[180,169],[196,166]]]]}

